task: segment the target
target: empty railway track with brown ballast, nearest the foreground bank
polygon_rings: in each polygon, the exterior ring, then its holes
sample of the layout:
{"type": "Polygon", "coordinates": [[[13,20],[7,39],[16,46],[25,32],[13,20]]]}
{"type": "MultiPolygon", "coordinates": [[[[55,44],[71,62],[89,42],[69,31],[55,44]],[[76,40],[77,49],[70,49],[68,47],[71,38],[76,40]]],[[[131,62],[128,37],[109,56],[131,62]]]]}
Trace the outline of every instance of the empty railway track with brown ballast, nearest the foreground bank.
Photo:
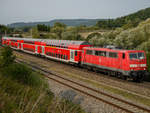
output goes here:
{"type": "Polygon", "coordinates": [[[104,93],[102,91],[90,88],[86,85],[75,82],[73,80],[64,78],[63,76],[61,76],[60,74],[57,74],[56,72],[49,71],[49,70],[41,68],[39,66],[35,66],[31,63],[24,62],[20,59],[19,60],[17,59],[17,62],[27,64],[27,65],[31,66],[32,69],[35,71],[40,70],[46,78],[51,79],[51,80],[53,80],[59,84],[62,84],[64,86],[67,86],[71,89],[74,89],[80,93],[87,95],[87,96],[90,96],[96,100],[102,101],[102,102],[104,102],[108,105],[111,105],[117,109],[120,109],[124,112],[127,112],[127,113],[150,113],[150,109],[147,109],[143,106],[139,106],[139,105],[133,104],[131,102],[128,102],[126,100],[114,97],[114,96],[104,93]]]}

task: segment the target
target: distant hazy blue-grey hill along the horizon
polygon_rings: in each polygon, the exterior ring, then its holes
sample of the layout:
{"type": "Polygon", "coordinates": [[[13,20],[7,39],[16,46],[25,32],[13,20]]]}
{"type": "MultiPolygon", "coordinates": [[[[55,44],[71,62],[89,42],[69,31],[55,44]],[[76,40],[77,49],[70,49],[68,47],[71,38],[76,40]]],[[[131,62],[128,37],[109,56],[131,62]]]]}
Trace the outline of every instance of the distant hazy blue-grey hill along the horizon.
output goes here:
{"type": "Polygon", "coordinates": [[[36,26],[37,24],[45,24],[49,26],[53,26],[55,22],[61,22],[66,24],[67,26],[79,26],[79,25],[86,25],[86,26],[92,26],[97,23],[100,19],[55,19],[47,22],[17,22],[9,24],[8,27],[32,27],[36,26]]]}

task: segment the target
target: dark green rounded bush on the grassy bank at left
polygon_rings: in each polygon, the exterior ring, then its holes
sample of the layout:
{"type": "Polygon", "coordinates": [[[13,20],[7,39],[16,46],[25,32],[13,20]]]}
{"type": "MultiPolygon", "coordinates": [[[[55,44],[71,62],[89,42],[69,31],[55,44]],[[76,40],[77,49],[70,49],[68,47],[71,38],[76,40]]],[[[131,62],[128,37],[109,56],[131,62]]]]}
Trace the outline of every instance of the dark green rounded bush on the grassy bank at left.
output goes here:
{"type": "Polygon", "coordinates": [[[24,64],[11,64],[3,69],[3,74],[23,84],[31,86],[40,86],[42,84],[39,74],[32,72],[32,69],[24,64]]]}

